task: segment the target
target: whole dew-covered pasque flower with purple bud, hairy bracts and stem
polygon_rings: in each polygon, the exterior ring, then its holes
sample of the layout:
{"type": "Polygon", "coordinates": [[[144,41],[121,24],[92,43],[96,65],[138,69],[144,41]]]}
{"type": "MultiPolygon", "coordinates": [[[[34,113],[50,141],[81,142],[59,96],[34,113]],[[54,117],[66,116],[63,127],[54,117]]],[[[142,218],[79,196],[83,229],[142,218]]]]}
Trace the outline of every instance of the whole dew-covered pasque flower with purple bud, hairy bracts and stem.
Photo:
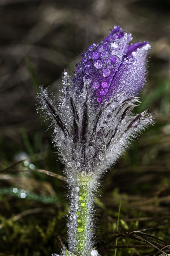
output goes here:
{"type": "Polygon", "coordinates": [[[54,127],[69,184],[68,249],[63,254],[96,256],[94,196],[100,176],[128,147],[132,138],[153,122],[132,109],[146,79],[148,42],[130,44],[131,34],[115,26],[100,43],[81,54],[71,77],[63,74],[56,102],[40,86],[40,103],[54,127]],[[92,250],[92,251],[91,251],[92,250]]]}

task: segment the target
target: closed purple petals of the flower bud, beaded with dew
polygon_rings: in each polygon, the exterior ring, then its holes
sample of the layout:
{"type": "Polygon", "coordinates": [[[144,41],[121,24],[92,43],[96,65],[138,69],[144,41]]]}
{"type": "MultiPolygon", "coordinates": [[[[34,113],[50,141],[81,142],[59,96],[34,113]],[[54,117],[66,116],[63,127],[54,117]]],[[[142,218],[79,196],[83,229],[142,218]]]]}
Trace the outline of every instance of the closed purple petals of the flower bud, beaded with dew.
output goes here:
{"type": "Polygon", "coordinates": [[[82,60],[74,74],[77,93],[86,82],[92,103],[100,102],[101,105],[105,99],[121,93],[137,95],[145,82],[146,56],[150,45],[146,41],[129,45],[131,40],[131,34],[115,26],[104,40],[90,45],[81,54],[82,60]],[[104,89],[103,83],[107,84],[104,89]]]}

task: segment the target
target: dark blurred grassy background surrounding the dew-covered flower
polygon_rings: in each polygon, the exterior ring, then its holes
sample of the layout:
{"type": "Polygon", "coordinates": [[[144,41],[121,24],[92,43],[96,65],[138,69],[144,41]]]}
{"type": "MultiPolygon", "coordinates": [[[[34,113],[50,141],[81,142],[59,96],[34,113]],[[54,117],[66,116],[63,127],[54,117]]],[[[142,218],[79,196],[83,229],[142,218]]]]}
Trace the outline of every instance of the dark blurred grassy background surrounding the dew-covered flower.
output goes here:
{"type": "Polygon", "coordinates": [[[67,186],[33,171],[63,175],[49,123],[36,112],[36,92],[44,84],[57,94],[62,71],[71,72],[80,53],[115,24],[133,42],[152,46],[135,111],[149,108],[156,123],[103,178],[97,248],[101,255],[117,247],[119,256],[150,256],[167,245],[170,253],[170,1],[0,0],[0,256],[50,255],[60,250],[57,235],[67,244],[67,186]],[[119,231],[147,234],[122,235],[116,245],[120,198],[119,231]]]}

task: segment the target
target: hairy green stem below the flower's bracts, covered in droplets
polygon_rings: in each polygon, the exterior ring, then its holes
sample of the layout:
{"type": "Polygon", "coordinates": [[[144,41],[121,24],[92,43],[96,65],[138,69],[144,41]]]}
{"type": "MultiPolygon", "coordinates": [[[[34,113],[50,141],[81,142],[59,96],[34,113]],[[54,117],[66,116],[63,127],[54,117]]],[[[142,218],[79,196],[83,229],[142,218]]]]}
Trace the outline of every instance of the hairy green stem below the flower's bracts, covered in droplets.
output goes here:
{"type": "Polygon", "coordinates": [[[68,223],[69,250],[82,256],[88,255],[93,246],[94,192],[96,182],[91,174],[82,171],[74,178],[68,223]]]}

